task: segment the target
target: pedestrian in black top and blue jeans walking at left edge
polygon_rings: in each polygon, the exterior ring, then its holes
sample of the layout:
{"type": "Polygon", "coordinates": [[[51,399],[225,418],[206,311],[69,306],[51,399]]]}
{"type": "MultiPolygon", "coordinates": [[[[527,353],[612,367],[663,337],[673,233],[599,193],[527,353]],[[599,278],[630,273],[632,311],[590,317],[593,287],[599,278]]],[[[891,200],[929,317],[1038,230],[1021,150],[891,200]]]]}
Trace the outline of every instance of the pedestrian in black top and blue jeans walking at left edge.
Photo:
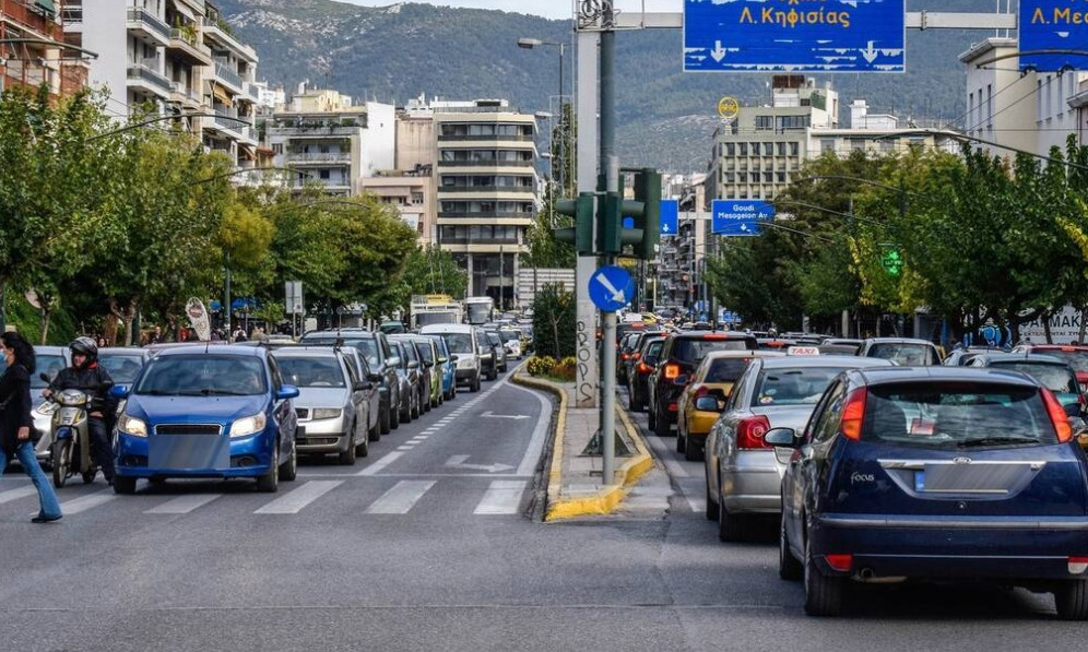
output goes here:
{"type": "Polygon", "coordinates": [[[34,481],[40,505],[34,523],[60,519],[60,503],[49,478],[34,454],[34,418],[31,416],[31,374],[34,374],[34,347],[19,333],[0,335],[0,352],[8,369],[0,376],[0,475],[8,460],[17,458],[23,471],[34,481]]]}

